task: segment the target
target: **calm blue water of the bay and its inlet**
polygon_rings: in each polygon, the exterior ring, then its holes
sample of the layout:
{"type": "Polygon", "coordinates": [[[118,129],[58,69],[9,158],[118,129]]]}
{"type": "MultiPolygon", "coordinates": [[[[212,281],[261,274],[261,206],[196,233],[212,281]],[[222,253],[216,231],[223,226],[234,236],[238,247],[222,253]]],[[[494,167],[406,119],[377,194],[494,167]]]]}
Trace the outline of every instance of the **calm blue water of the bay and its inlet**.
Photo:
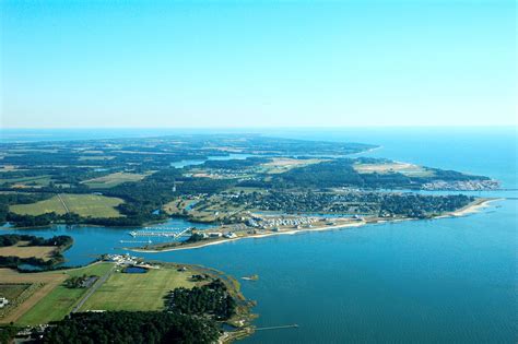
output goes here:
{"type": "MultiPolygon", "coordinates": [[[[483,174],[517,189],[516,129],[357,129],[270,134],[382,145],[386,156],[483,174]]],[[[485,193],[482,193],[485,194],[485,193]]],[[[242,281],[258,301],[259,331],[244,343],[516,343],[517,191],[514,198],[459,218],[380,224],[322,233],[246,239],[146,258],[214,266],[242,281]]],[[[178,226],[188,223],[176,221],[178,226]]],[[[125,229],[83,227],[67,233],[76,245],[70,264],[120,252],[125,229]]]]}

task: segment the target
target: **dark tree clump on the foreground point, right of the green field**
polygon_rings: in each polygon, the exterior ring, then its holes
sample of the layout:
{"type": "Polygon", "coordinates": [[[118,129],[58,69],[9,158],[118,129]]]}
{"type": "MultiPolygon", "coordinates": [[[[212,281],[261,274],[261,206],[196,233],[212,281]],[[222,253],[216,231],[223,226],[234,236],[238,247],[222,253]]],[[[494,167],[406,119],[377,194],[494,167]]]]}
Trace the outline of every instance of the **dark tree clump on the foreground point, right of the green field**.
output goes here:
{"type": "Polygon", "coordinates": [[[236,312],[236,301],[225,284],[215,280],[201,287],[176,288],[165,297],[166,309],[181,315],[212,316],[227,320],[236,312]]]}

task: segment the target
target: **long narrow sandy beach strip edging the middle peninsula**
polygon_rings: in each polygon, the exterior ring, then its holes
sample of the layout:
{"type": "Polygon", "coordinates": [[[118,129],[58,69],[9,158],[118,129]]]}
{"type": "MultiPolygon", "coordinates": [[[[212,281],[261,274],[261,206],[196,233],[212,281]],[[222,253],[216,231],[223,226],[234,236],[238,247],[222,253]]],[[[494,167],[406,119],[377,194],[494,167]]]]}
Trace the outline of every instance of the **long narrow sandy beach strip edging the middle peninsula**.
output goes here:
{"type": "MultiPolygon", "coordinates": [[[[461,207],[457,211],[449,212],[443,215],[433,216],[431,218],[425,220],[440,220],[440,218],[451,218],[451,217],[462,217],[470,214],[479,213],[482,209],[490,206],[491,202],[501,201],[502,198],[484,198],[478,199],[470,204],[461,207]]],[[[125,248],[129,251],[133,252],[142,252],[142,253],[161,253],[161,252],[170,252],[170,251],[178,251],[178,250],[192,250],[192,249],[200,249],[208,246],[221,245],[225,242],[238,241],[243,239],[261,239],[271,236],[280,236],[280,235],[296,235],[296,234],[307,234],[310,232],[323,232],[323,230],[333,230],[333,229],[344,229],[350,227],[362,227],[366,225],[376,225],[376,224],[384,224],[384,223],[398,223],[403,221],[419,221],[419,218],[396,218],[396,220],[374,220],[374,221],[362,221],[356,223],[346,223],[341,225],[333,225],[333,226],[323,226],[323,227],[315,227],[315,228],[305,228],[305,229],[292,229],[292,230],[283,230],[283,232],[274,232],[274,233],[266,233],[266,234],[257,234],[257,235],[248,235],[232,239],[215,239],[204,244],[195,244],[192,246],[178,246],[178,247],[170,247],[164,249],[139,249],[139,248],[125,248]]]]}

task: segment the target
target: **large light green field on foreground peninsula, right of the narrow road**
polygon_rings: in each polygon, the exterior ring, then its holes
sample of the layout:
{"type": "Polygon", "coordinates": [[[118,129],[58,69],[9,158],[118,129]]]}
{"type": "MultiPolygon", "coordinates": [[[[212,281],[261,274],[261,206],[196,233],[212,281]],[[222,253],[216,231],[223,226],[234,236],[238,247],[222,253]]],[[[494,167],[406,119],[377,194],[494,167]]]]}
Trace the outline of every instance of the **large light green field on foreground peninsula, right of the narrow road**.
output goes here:
{"type": "Polygon", "coordinates": [[[192,272],[176,269],[150,270],[143,274],[114,273],[81,310],[157,310],[163,297],[177,287],[192,287],[192,272]]]}

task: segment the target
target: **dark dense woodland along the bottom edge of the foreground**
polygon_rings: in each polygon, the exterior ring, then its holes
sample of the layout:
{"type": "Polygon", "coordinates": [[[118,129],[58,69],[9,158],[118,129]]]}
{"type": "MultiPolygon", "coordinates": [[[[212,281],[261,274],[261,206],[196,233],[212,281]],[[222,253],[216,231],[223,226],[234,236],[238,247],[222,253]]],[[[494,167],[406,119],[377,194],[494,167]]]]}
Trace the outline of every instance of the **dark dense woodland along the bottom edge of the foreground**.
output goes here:
{"type": "Polygon", "coordinates": [[[213,321],[161,311],[107,311],[72,313],[51,323],[42,344],[204,344],[220,331],[213,321]]]}

